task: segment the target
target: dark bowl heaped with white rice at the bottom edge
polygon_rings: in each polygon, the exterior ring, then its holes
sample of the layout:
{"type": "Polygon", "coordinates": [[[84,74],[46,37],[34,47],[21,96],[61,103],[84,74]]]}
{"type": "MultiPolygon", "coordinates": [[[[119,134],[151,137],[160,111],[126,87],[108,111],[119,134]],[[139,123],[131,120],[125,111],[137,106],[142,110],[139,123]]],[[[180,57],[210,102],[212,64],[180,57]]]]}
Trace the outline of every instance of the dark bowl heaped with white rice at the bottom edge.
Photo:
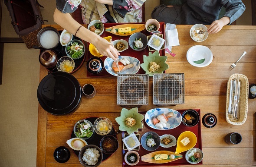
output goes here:
{"type": "Polygon", "coordinates": [[[79,151],[79,161],[84,167],[98,167],[102,162],[103,154],[96,145],[85,145],[79,151]]]}

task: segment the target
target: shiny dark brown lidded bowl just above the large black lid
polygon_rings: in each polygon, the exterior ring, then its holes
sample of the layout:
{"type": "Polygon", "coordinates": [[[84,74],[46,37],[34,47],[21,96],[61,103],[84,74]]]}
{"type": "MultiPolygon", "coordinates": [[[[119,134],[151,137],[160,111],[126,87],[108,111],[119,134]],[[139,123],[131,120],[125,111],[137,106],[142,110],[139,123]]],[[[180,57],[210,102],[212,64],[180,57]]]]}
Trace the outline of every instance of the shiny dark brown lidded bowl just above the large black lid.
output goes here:
{"type": "Polygon", "coordinates": [[[57,64],[57,54],[53,50],[43,50],[39,62],[47,69],[53,68],[57,64]]]}

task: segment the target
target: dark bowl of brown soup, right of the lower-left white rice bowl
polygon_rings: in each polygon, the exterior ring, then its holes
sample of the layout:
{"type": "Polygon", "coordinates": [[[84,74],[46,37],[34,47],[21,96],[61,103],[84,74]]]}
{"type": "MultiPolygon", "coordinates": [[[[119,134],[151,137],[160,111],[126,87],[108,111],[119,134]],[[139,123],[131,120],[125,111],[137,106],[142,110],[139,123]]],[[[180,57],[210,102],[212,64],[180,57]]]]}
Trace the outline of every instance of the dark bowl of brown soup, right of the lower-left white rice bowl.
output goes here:
{"type": "Polygon", "coordinates": [[[118,149],[118,140],[112,135],[104,136],[100,143],[100,149],[105,154],[113,154],[118,149]]]}

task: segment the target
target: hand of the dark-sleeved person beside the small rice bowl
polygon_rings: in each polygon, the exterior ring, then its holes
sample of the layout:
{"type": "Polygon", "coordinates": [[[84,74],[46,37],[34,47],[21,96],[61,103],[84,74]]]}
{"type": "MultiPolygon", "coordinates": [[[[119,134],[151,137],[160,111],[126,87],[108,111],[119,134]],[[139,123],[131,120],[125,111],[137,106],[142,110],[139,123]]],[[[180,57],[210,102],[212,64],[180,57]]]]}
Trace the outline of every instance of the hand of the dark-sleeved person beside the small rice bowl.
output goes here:
{"type": "Polygon", "coordinates": [[[219,20],[215,20],[207,29],[207,31],[209,34],[216,34],[223,28],[224,25],[227,25],[228,23],[230,23],[229,17],[223,17],[219,20]]]}

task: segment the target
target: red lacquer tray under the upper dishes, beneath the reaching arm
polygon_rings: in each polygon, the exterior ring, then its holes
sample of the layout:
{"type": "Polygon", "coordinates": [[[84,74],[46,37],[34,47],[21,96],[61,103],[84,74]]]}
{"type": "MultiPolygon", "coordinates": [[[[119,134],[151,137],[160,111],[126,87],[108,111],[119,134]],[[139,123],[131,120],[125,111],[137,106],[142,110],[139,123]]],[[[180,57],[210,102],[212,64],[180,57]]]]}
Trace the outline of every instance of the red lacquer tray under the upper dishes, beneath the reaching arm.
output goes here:
{"type": "MultiPolygon", "coordinates": [[[[120,24],[127,24],[127,23],[105,23],[104,26],[105,28],[108,28],[108,27],[112,27],[112,26],[115,26],[115,25],[120,25],[120,24]]],[[[136,24],[136,23],[129,23],[129,24],[136,24]]],[[[142,24],[145,24],[145,23],[142,23],[142,24]]],[[[160,28],[159,28],[159,31],[162,32],[163,34],[163,37],[165,38],[165,35],[164,35],[164,22],[160,22],[160,28]]],[[[151,35],[149,32],[147,32],[146,29],[142,30],[141,31],[142,33],[144,33],[146,36],[149,36],[151,35]]],[[[125,41],[129,41],[129,36],[118,36],[118,35],[114,35],[110,32],[106,32],[104,31],[103,34],[101,35],[101,37],[107,37],[107,36],[112,36],[112,40],[115,41],[117,39],[124,39],[125,41]]],[[[88,57],[86,59],[86,61],[88,61],[90,58],[94,57],[90,51],[89,51],[89,44],[87,45],[88,49],[87,49],[87,54],[88,54],[88,57]]],[[[148,46],[144,49],[144,50],[141,50],[141,51],[135,51],[133,49],[131,49],[131,47],[129,46],[129,48],[127,50],[124,50],[122,52],[120,52],[120,56],[131,56],[131,57],[135,57],[137,58],[140,63],[143,63],[143,55],[147,55],[148,56],[148,52],[149,52],[149,49],[148,49],[148,46]]],[[[154,51],[151,51],[152,53],[154,51]]],[[[160,56],[164,56],[165,55],[165,52],[164,50],[159,50],[159,54],[160,56]]],[[[100,57],[103,62],[104,60],[107,58],[106,56],[103,56],[103,57],[100,57]]],[[[142,68],[139,69],[139,71],[137,72],[137,74],[144,74],[144,70],[142,68]]],[[[87,72],[87,77],[110,77],[112,76],[111,74],[109,74],[105,69],[100,72],[99,74],[92,74],[90,72],[87,72]]]]}

